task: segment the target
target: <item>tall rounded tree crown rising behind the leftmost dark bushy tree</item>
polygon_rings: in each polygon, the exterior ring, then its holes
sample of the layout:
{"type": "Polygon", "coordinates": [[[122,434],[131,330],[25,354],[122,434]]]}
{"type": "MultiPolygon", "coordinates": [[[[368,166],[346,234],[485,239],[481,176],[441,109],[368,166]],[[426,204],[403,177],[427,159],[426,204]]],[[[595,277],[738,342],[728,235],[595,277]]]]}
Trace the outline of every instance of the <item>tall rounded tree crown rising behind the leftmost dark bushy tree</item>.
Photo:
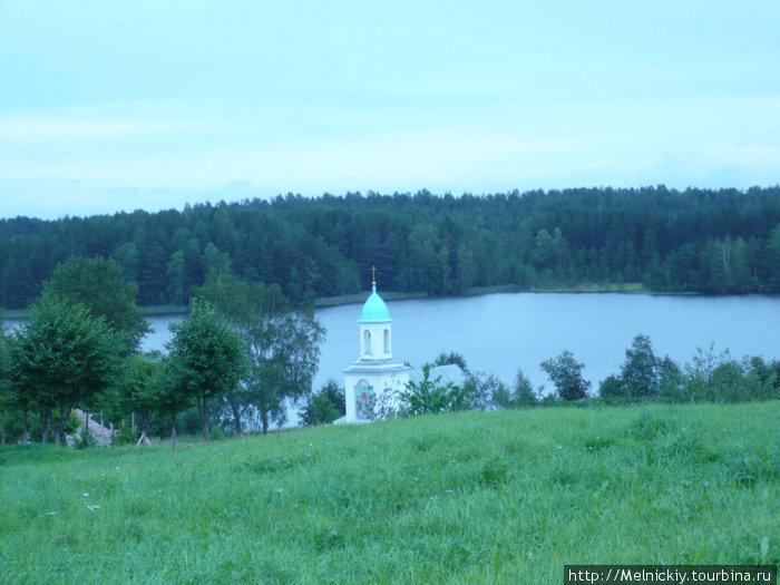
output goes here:
{"type": "Polygon", "coordinates": [[[43,283],[45,294],[72,304],[82,303],[95,316],[104,316],[119,337],[126,353],[138,349],[149,326],[136,306],[138,285],[125,281],[115,260],[71,256],[43,283]]]}

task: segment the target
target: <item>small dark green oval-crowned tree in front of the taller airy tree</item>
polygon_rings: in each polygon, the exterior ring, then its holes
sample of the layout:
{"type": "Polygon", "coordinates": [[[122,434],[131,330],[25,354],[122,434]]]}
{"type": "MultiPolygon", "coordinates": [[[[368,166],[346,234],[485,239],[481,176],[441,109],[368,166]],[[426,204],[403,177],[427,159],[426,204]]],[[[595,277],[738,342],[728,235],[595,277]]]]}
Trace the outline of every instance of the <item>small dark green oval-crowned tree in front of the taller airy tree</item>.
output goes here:
{"type": "Polygon", "coordinates": [[[168,344],[174,363],[175,387],[193,397],[209,441],[208,400],[232,391],[242,376],[245,355],[241,338],[217,314],[211,303],[194,299],[183,323],[170,325],[168,344]]]}

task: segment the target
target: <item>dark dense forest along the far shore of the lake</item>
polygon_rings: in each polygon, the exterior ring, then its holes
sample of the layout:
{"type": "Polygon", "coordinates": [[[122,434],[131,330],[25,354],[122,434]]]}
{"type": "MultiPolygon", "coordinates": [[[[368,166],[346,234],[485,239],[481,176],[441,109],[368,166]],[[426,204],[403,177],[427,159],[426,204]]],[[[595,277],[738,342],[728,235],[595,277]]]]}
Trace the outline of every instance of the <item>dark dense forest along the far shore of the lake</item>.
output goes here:
{"type": "Polygon", "coordinates": [[[780,186],[427,191],[0,221],[0,304],[27,306],[69,256],[113,257],[142,305],[184,304],[212,267],[298,302],[383,290],[454,295],[641,282],[659,292],[780,292],[780,186]]]}

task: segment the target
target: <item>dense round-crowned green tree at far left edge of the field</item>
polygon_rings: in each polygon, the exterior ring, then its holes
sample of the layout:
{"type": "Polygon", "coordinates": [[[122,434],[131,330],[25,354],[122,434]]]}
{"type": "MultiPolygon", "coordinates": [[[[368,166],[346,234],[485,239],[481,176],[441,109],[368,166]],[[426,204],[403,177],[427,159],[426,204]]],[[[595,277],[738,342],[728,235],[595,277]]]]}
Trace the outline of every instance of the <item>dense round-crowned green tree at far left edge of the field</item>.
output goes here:
{"type": "Polygon", "coordinates": [[[94,400],[113,383],[119,352],[116,337],[103,316],[92,316],[82,304],[45,294],[14,333],[12,348],[19,403],[22,409],[39,409],[43,440],[50,426],[59,445],[74,407],[94,400]],[[55,408],[59,408],[56,429],[55,408]]]}

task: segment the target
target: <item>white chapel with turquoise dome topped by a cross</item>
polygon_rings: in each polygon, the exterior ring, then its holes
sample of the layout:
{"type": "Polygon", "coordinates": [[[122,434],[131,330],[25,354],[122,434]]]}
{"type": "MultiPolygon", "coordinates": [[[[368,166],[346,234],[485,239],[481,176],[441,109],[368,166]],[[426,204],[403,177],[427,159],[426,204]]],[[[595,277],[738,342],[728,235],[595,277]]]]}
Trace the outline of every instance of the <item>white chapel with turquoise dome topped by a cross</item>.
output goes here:
{"type": "Polygon", "coordinates": [[[368,422],[382,404],[393,406],[397,391],[409,382],[411,367],[392,357],[392,319],[377,292],[376,272],[358,320],[360,358],[343,370],[347,416],[343,422],[368,422]]]}

